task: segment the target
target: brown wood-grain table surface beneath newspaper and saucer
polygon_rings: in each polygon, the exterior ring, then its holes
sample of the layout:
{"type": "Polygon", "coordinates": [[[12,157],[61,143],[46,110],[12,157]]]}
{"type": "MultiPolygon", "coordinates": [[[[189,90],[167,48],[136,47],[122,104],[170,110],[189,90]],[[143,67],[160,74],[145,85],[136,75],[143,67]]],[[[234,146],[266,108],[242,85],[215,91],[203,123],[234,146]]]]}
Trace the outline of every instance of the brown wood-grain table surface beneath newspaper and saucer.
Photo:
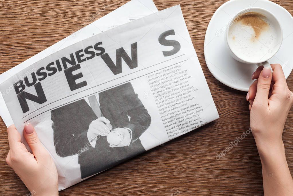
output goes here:
{"type": "MultiPolygon", "coordinates": [[[[18,65],[57,41],[125,4],[94,0],[0,0],[0,73],[18,65]],[[107,5],[107,9],[100,9],[107,5]],[[96,18],[97,19],[97,18],[96,18]]],[[[261,163],[252,134],[220,160],[216,159],[235,137],[249,129],[246,93],[226,87],[209,72],[204,38],[213,13],[225,0],[154,0],[159,10],[181,4],[188,30],[212,92],[220,119],[192,131],[106,172],[60,192],[60,195],[263,195],[261,163]]],[[[290,13],[293,1],[274,0],[290,13]]],[[[287,80],[293,89],[293,76],[287,80]]],[[[1,109],[1,108],[0,108],[1,109]]],[[[26,195],[29,191],[6,164],[8,140],[0,121],[0,194],[26,195]]],[[[293,172],[293,111],[284,130],[289,167],[293,172]]]]}

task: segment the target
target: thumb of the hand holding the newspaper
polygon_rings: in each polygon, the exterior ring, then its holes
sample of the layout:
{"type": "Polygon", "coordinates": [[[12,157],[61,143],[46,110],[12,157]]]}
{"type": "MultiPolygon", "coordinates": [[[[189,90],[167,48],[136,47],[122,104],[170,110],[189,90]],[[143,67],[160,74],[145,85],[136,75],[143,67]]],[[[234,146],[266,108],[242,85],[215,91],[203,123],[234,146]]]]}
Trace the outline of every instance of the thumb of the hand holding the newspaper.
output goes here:
{"type": "Polygon", "coordinates": [[[30,146],[30,149],[32,150],[33,155],[35,156],[37,160],[47,154],[47,151],[45,150],[44,146],[40,142],[38,135],[35,131],[35,128],[33,127],[32,124],[28,123],[24,126],[23,135],[26,142],[28,143],[28,146],[30,146]]]}

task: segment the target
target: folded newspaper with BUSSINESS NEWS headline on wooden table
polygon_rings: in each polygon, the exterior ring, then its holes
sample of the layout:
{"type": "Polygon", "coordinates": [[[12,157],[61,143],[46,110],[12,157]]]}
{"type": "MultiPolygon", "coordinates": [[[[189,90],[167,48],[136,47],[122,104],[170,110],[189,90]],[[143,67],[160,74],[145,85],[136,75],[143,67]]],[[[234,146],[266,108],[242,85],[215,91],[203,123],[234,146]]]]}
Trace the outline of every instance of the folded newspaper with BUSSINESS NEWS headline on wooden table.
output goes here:
{"type": "Polygon", "coordinates": [[[48,55],[0,91],[21,135],[35,126],[60,190],[219,118],[179,5],[48,55]]]}

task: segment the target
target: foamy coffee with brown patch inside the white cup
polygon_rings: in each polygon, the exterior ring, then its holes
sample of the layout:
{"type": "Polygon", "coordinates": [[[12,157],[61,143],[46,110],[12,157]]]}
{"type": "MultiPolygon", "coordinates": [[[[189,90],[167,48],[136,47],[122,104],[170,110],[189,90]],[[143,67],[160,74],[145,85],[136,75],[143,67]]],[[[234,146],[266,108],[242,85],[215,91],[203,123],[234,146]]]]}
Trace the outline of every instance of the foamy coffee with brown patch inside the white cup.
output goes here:
{"type": "Polygon", "coordinates": [[[229,28],[228,39],[234,54],[248,62],[260,61],[278,44],[276,28],[257,12],[236,17],[229,28]]]}

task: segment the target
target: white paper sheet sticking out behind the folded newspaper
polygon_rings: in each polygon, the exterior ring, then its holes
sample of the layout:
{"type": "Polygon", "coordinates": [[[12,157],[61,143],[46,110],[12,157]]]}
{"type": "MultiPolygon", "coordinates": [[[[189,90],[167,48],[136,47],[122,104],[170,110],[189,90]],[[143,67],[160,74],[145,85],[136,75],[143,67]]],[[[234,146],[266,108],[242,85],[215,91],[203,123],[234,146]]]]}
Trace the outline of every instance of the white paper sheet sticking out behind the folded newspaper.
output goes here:
{"type": "MultiPolygon", "coordinates": [[[[98,9],[95,13],[91,15],[88,19],[90,21],[93,18],[96,18],[100,15],[100,12],[107,9],[107,6],[103,6],[98,9]]],[[[34,55],[33,57],[25,60],[21,64],[13,67],[12,69],[4,72],[0,75],[0,84],[5,80],[8,80],[12,75],[17,74],[19,71],[27,68],[28,66],[32,65],[39,60],[42,60],[46,56],[57,52],[63,48],[66,48],[76,42],[82,41],[86,38],[89,38],[93,35],[101,33],[103,31],[107,31],[116,26],[120,26],[127,22],[133,21],[138,18],[142,18],[143,16],[147,16],[149,14],[157,12],[158,9],[156,8],[154,2],[152,0],[131,0],[128,3],[124,4],[120,8],[108,13],[107,15],[103,16],[102,18],[94,21],[93,23],[79,29],[78,31],[72,33],[70,36],[64,38],[63,40],[55,43],[54,45],[50,46],[49,48],[43,50],[42,52],[34,55]]],[[[84,22],[85,24],[88,23],[87,21],[84,22]]],[[[83,24],[81,27],[84,26],[83,24]]],[[[0,116],[2,117],[6,126],[10,126],[13,124],[9,111],[6,107],[4,99],[0,93],[0,116]]]]}

